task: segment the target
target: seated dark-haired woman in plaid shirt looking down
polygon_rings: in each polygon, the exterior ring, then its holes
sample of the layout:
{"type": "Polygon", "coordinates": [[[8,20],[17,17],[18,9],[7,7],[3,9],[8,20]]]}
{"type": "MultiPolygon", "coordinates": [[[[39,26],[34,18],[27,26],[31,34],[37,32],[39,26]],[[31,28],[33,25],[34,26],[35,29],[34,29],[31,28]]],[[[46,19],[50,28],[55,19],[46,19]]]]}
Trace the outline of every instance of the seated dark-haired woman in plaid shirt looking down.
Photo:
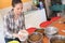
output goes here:
{"type": "Polygon", "coordinates": [[[17,40],[21,38],[17,33],[25,29],[25,17],[22,12],[23,3],[21,0],[12,0],[12,10],[9,15],[4,16],[4,27],[5,29],[5,43],[17,40]]]}

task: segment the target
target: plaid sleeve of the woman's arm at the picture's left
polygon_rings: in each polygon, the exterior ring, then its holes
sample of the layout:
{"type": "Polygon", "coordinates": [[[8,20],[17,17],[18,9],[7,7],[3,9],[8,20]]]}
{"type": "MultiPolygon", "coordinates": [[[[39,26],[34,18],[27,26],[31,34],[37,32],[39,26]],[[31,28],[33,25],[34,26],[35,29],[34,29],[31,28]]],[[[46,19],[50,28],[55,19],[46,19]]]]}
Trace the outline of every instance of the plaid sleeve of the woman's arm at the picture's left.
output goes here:
{"type": "Polygon", "coordinates": [[[4,26],[3,26],[4,27],[4,35],[6,38],[12,38],[12,33],[9,32],[9,30],[8,30],[8,23],[9,23],[8,16],[4,16],[3,22],[4,22],[4,26]]]}

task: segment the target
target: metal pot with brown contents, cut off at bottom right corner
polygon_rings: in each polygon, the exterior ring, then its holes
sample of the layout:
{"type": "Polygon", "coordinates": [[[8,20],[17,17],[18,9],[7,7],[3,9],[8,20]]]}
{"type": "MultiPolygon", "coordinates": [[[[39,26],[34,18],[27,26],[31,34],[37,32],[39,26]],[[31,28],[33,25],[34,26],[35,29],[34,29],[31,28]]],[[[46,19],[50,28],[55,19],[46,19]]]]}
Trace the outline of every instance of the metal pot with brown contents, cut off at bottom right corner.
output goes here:
{"type": "Polygon", "coordinates": [[[65,43],[65,35],[54,35],[50,39],[50,43],[65,43]]]}

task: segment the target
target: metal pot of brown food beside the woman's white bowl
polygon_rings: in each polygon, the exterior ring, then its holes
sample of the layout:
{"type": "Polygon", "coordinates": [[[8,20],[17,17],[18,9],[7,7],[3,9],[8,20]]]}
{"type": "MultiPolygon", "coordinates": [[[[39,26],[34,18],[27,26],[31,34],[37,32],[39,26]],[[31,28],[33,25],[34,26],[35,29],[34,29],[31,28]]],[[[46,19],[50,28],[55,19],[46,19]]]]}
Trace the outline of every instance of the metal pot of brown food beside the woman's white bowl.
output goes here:
{"type": "Polygon", "coordinates": [[[43,35],[40,32],[34,32],[28,37],[29,43],[42,43],[43,35]]]}

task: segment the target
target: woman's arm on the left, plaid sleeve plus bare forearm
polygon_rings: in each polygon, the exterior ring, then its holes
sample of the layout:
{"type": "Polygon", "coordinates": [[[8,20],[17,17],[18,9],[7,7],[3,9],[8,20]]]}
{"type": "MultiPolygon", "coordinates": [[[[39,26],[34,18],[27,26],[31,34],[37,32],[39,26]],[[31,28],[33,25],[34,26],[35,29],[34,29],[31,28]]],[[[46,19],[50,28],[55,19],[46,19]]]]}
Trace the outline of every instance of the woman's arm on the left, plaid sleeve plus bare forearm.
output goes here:
{"type": "Polygon", "coordinates": [[[13,33],[13,32],[9,31],[9,17],[8,16],[4,16],[3,22],[4,22],[5,38],[18,38],[17,33],[13,33]]]}

